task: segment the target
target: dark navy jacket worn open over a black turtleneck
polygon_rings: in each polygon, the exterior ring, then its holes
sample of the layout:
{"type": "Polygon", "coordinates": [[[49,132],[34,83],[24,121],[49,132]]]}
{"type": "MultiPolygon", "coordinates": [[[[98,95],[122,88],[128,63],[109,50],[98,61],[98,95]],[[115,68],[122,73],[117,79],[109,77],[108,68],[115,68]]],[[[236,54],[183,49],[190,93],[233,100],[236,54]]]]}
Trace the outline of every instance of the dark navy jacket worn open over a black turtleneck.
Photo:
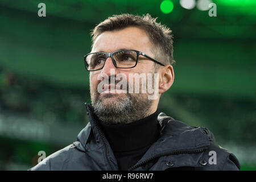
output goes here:
{"type": "MultiPolygon", "coordinates": [[[[117,160],[92,107],[85,105],[89,123],[81,130],[77,141],[28,170],[118,170],[117,160]]],[[[188,126],[164,113],[158,115],[158,122],[162,127],[159,139],[129,170],[240,169],[236,156],[218,146],[207,128],[188,126]],[[212,164],[210,151],[216,152],[216,164],[212,164]]]]}

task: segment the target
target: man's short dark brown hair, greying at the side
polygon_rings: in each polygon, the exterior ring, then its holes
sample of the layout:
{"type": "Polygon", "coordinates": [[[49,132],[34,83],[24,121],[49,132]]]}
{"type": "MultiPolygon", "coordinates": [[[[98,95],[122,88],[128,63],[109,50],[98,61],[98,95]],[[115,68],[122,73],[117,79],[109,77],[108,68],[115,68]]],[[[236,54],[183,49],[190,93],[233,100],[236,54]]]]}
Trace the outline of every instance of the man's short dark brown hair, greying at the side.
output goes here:
{"type": "Polygon", "coordinates": [[[138,27],[144,30],[154,49],[155,59],[158,59],[164,65],[173,64],[173,40],[170,28],[156,22],[157,18],[152,18],[151,15],[132,15],[121,14],[113,15],[99,23],[92,31],[92,42],[94,44],[97,37],[105,31],[122,30],[126,27],[138,27]]]}

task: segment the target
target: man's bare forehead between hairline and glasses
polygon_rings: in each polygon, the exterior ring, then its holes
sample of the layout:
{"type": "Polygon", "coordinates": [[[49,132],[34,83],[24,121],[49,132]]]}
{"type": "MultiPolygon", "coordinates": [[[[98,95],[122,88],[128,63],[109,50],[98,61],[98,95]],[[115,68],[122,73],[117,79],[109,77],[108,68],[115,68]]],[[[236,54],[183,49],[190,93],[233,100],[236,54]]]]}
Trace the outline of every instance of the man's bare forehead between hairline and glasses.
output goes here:
{"type": "Polygon", "coordinates": [[[122,30],[103,32],[95,40],[92,52],[113,52],[119,49],[135,49],[149,53],[151,42],[141,28],[127,27],[122,30]]]}

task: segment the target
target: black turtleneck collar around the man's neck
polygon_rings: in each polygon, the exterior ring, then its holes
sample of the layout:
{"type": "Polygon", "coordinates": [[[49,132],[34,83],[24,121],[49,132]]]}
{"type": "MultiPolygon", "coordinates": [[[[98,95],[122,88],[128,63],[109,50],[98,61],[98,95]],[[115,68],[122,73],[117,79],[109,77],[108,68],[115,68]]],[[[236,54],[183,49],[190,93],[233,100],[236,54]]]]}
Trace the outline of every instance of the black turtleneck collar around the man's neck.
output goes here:
{"type": "Polygon", "coordinates": [[[127,152],[148,148],[160,135],[159,110],[131,123],[107,124],[100,121],[101,128],[113,152],[127,152]]]}

